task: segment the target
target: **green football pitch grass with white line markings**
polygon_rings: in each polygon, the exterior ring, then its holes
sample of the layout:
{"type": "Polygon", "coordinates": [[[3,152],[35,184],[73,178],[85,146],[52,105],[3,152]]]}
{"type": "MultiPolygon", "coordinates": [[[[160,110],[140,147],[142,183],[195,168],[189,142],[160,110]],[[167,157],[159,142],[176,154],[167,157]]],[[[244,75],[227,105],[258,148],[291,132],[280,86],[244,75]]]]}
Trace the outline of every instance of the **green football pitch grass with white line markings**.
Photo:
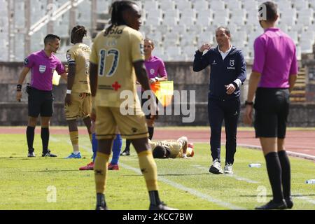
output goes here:
{"type": "MultiPolygon", "coordinates": [[[[50,149],[57,158],[41,158],[41,138],[36,134],[36,158],[27,158],[24,134],[0,134],[0,209],[95,209],[92,171],[78,168],[91,161],[88,137],[80,136],[82,159],[63,159],[72,151],[69,136],[51,134],[50,149]]],[[[123,142],[123,148],[125,141],[123,142]]],[[[113,210],[146,210],[149,206],[144,177],[136,152],[120,157],[120,170],[109,171],[106,202],[113,210]]],[[[225,147],[221,152],[222,164],[225,147]]],[[[237,148],[233,175],[209,173],[209,144],[195,143],[190,160],[155,160],[160,197],[181,210],[253,209],[271,199],[262,152],[237,148]],[[250,168],[261,163],[261,168],[250,168]]],[[[290,158],[293,209],[315,209],[314,161],[290,158]]],[[[224,164],[223,164],[224,165],[224,164]]]]}

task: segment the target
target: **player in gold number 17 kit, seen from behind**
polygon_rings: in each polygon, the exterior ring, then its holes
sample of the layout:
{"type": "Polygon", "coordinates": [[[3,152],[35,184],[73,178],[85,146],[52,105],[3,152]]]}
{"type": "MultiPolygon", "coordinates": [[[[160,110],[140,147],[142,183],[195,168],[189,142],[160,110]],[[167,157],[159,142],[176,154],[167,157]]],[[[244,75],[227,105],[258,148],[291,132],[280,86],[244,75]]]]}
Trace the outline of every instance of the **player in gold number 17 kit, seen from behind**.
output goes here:
{"type": "MultiPolygon", "coordinates": [[[[96,133],[99,141],[94,163],[97,191],[97,209],[108,209],[105,201],[107,165],[111,145],[118,127],[122,137],[130,139],[139,157],[139,166],[150,197],[149,209],[171,209],[160,201],[158,174],[151,147],[148,144],[148,127],[137,96],[136,79],[144,90],[151,90],[144,67],[143,37],[139,7],[132,1],[115,1],[111,5],[111,26],[94,39],[90,57],[92,114],[96,112],[96,133]],[[137,78],[136,78],[137,76],[137,78]],[[120,94],[131,92],[135,114],[123,115],[125,99],[120,94]]],[[[151,97],[153,93],[151,92],[151,97]]],[[[155,109],[152,100],[151,110],[155,109]]],[[[93,115],[94,116],[94,115],[93,115]]],[[[153,115],[155,116],[155,115],[153,115]]]]}

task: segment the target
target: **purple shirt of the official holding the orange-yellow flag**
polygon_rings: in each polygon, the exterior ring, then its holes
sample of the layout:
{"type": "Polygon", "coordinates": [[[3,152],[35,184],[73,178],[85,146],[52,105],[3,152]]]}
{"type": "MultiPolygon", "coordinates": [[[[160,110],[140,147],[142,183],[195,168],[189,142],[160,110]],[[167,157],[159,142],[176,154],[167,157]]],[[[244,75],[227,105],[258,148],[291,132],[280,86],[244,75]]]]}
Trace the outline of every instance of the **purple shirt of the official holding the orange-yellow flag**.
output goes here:
{"type": "Polygon", "coordinates": [[[148,61],[144,62],[144,65],[146,66],[149,79],[157,76],[167,77],[164,62],[159,57],[151,56],[148,61]]]}

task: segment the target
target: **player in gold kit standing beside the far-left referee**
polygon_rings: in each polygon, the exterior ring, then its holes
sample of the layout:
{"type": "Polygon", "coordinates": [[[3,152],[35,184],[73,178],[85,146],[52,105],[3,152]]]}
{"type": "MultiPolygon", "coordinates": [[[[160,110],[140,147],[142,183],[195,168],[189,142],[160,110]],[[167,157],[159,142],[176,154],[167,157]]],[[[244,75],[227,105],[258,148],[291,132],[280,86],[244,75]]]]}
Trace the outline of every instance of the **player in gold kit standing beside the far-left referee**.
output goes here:
{"type": "Polygon", "coordinates": [[[66,52],[69,75],[66,97],[64,99],[64,111],[73,147],[73,153],[66,157],[67,159],[81,158],[78,146],[77,118],[83,118],[92,141],[90,119],[92,102],[89,76],[91,50],[89,46],[83,43],[83,37],[86,36],[86,33],[87,31],[83,26],[73,27],[71,31],[71,43],[73,43],[73,46],[66,52]]]}

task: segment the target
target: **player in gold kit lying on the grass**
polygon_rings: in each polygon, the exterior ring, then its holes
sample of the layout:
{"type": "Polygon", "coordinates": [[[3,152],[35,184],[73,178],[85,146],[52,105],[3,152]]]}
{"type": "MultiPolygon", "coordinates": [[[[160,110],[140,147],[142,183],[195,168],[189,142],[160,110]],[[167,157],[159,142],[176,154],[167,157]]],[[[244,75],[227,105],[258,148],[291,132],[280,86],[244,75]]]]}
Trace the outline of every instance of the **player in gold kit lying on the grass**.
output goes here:
{"type": "Polygon", "coordinates": [[[153,158],[155,159],[188,159],[193,157],[195,154],[193,144],[188,144],[187,137],[180,137],[177,140],[165,140],[158,142],[149,141],[149,144],[151,145],[153,158]]]}

